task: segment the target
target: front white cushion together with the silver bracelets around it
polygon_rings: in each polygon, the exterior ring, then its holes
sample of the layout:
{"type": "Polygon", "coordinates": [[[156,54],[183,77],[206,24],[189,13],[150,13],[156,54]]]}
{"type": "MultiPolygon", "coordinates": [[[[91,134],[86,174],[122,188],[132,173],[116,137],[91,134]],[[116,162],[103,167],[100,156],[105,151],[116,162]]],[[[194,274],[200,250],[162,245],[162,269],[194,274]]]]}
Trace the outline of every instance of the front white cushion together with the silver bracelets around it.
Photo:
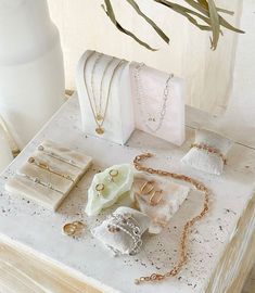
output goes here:
{"type": "Polygon", "coordinates": [[[141,237],[148,227],[149,218],[146,215],[130,207],[120,206],[100,226],[92,229],[91,233],[98,240],[100,240],[115,256],[124,254],[135,255],[141,249],[141,237]],[[117,217],[117,220],[115,217],[117,217]],[[130,222],[133,224],[137,228],[130,228],[127,225],[129,221],[128,218],[130,219],[130,222]],[[118,227],[127,232],[120,230],[118,227]],[[133,229],[137,229],[137,234],[136,230],[135,233],[132,232],[133,229]]]}

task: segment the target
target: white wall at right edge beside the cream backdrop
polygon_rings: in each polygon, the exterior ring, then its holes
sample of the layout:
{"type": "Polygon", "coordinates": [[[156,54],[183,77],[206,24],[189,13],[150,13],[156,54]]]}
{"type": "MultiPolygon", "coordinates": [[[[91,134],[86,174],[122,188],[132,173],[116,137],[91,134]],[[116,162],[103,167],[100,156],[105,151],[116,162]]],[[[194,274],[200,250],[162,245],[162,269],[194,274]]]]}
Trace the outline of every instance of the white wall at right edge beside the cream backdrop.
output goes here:
{"type": "Polygon", "coordinates": [[[233,90],[226,114],[214,117],[191,111],[189,120],[255,148],[255,0],[244,0],[241,27],[246,34],[238,40],[233,90]]]}

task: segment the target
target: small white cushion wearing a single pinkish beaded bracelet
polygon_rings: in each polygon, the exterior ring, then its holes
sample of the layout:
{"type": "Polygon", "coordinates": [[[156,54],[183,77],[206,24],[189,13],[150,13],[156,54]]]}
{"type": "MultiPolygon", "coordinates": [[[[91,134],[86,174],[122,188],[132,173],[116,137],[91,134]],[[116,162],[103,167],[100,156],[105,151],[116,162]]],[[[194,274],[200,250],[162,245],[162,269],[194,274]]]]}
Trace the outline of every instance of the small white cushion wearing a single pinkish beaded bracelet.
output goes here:
{"type": "Polygon", "coordinates": [[[195,169],[208,174],[221,175],[225,165],[224,158],[227,157],[233,142],[230,139],[214,131],[206,129],[197,129],[195,131],[194,143],[197,145],[204,144],[206,146],[215,149],[219,152],[219,154],[193,146],[182,157],[181,162],[195,169]]]}

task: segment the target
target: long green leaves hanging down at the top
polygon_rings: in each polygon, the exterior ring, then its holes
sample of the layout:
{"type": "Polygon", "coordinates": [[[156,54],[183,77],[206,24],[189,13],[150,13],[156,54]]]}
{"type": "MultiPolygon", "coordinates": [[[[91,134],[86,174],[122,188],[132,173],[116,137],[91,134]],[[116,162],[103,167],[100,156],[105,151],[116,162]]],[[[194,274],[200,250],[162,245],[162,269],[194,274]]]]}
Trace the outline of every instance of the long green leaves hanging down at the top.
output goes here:
{"type": "MultiPolygon", "coordinates": [[[[214,0],[183,0],[186,3],[189,4],[190,8],[167,0],[153,0],[153,1],[158,3],[160,5],[164,5],[175,11],[176,13],[184,16],[192,25],[194,25],[199,29],[212,31],[212,36],[209,38],[212,50],[216,50],[217,48],[219,37],[220,35],[222,35],[221,30],[222,27],[232,30],[234,33],[244,34],[243,30],[235,28],[220,15],[220,13],[233,15],[233,12],[216,7],[214,0]]],[[[138,13],[138,15],[140,15],[150,26],[152,26],[152,28],[156,31],[156,34],[166,43],[169,43],[168,36],[150,17],[148,17],[141,11],[136,0],[126,0],[126,2],[128,2],[133,8],[133,10],[138,13]]],[[[118,30],[131,37],[138,43],[145,47],[146,49],[151,51],[156,51],[156,49],[152,48],[145,41],[139,39],[133,33],[129,31],[128,29],[124,28],[120,25],[120,23],[115,17],[111,0],[104,0],[104,4],[102,4],[102,8],[118,30]]]]}

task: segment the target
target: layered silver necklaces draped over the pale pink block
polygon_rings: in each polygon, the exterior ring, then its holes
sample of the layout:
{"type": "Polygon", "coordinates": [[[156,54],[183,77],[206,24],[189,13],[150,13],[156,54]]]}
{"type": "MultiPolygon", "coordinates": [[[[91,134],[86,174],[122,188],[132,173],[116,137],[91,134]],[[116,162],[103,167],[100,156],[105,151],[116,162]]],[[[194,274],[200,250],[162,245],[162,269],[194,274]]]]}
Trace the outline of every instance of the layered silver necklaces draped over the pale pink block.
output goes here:
{"type": "Polygon", "coordinates": [[[144,124],[144,126],[148,128],[148,130],[150,132],[157,132],[163,125],[165,115],[166,115],[166,110],[167,110],[167,101],[169,98],[169,87],[170,87],[170,80],[174,77],[173,74],[170,74],[168,76],[168,78],[166,79],[166,84],[165,84],[165,88],[163,91],[163,101],[162,101],[162,105],[158,109],[158,117],[155,118],[153,117],[153,115],[151,113],[149,113],[145,110],[145,105],[142,103],[144,101],[144,90],[142,87],[142,80],[141,80],[141,71],[142,68],[145,66],[144,63],[140,63],[136,66],[136,71],[135,71],[135,81],[137,85],[137,102],[139,105],[139,110],[140,110],[140,114],[141,114],[141,118],[142,122],[144,124]],[[151,125],[151,123],[156,123],[156,125],[154,125],[154,127],[151,125]]]}

